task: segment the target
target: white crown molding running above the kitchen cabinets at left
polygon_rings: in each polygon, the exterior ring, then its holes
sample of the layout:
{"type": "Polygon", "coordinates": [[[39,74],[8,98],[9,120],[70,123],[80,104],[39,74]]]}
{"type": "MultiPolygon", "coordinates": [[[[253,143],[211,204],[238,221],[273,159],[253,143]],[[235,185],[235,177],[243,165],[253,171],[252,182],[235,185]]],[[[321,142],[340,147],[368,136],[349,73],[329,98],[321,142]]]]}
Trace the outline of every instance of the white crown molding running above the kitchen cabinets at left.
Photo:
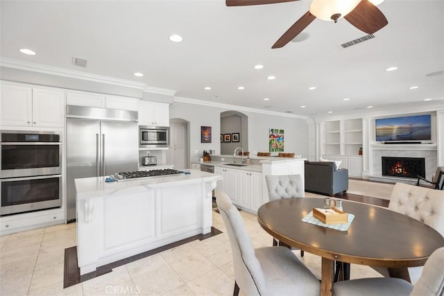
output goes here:
{"type": "Polygon", "coordinates": [[[129,87],[133,89],[140,89],[143,92],[150,92],[155,94],[166,94],[173,96],[176,94],[175,90],[162,89],[159,87],[151,87],[143,82],[134,82],[130,80],[124,80],[119,78],[113,78],[109,76],[102,76],[92,73],[85,73],[82,71],[76,71],[71,69],[63,69],[59,67],[47,66],[44,64],[36,64],[33,62],[24,62],[20,60],[13,60],[10,58],[0,58],[0,66],[12,69],[19,69],[24,71],[32,71],[37,73],[44,73],[54,76],[62,76],[67,78],[74,78],[79,80],[88,80],[93,82],[106,83],[109,85],[118,85],[121,87],[129,87]]]}

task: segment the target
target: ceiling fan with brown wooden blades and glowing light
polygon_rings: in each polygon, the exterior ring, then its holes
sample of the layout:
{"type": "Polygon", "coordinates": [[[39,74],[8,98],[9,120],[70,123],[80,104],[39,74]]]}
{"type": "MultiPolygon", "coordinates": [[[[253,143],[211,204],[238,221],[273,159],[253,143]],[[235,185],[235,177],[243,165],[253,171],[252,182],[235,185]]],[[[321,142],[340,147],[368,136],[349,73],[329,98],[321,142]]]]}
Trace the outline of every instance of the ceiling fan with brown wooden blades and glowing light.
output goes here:
{"type": "MultiPolygon", "coordinates": [[[[226,0],[227,6],[250,6],[292,2],[298,0],[226,0]]],[[[384,0],[382,0],[384,1],[384,0]]],[[[282,35],[272,49],[279,49],[301,33],[314,19],[334,21],[343,17],[350,24],[367,34],[373,34],[384,28],[388,21],[376,7],[381,0],[311,0],[309,11],[302,15],[287,32],[282,35]],[[375,3],[375,4],[374,4],[375,3]]]]}

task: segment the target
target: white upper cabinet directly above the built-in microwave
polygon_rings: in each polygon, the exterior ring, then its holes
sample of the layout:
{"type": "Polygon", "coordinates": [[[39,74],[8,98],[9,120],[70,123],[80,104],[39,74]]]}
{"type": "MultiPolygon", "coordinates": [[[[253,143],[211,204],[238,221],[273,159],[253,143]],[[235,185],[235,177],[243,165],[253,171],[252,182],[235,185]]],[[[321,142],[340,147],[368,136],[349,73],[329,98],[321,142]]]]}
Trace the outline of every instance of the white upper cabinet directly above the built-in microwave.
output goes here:
{"type": "Polygon", "coordinates": [[[139,101],[139,125],[169,126],[169,104],[139,101]]]}

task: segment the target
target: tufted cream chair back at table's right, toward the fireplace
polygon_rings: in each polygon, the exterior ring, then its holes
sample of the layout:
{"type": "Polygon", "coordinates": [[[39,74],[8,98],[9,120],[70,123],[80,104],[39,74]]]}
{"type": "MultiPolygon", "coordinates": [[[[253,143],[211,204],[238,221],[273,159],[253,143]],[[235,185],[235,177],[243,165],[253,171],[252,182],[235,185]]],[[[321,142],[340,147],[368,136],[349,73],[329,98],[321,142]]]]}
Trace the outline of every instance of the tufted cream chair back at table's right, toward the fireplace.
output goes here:
{"type": "Polygon", "coordinates": [[[444,236],[444,191],[396,183],[388,209],[420,220],[444,236]]]}

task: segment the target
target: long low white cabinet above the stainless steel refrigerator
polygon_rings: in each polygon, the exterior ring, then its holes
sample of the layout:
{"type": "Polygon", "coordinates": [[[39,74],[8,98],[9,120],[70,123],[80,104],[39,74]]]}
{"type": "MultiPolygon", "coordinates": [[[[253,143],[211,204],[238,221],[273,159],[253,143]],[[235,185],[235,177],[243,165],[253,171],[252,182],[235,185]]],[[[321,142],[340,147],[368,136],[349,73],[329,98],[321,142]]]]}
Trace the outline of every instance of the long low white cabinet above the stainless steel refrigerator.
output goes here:
{"type": "Polygon", "coordinates": [[[137,98],[68,92],[67,105],[137,111],[137,98]]]}

